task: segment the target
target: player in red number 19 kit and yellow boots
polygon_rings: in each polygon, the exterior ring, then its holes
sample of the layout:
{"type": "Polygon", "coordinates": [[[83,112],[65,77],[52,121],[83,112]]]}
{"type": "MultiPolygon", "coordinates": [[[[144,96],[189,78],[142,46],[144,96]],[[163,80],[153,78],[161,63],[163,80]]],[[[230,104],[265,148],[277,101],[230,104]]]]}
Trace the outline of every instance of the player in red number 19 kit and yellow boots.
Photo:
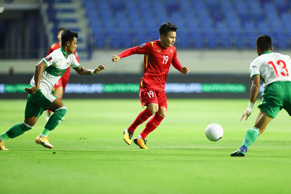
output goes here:
{"type": "Polygon", "coordinates": [[[124,130],[123,139],[130,145],[132,135],[137,126],[148,120],[143,131],[134,138],[134,143],[140,148],[145,146],[146,136],[155,130],[162,122],[167,112],[167,97],[165,93],[165,82],[167,74],[172,65],[182,74],[187,74],[189,69],[182,67],[177,59],[177,51],[173,46],[176,39],[177,26],[166,22],[159,28],[160,38],[152,42],[144,43],[130,49],[126,49],[118,55],[113,55],[111,61],[117,62],[120,58],[133,54],[144,54],[144,75],[139,86],[139,97],[142,106],[147,108],[136,117],[134,122],[124,130]]]}

